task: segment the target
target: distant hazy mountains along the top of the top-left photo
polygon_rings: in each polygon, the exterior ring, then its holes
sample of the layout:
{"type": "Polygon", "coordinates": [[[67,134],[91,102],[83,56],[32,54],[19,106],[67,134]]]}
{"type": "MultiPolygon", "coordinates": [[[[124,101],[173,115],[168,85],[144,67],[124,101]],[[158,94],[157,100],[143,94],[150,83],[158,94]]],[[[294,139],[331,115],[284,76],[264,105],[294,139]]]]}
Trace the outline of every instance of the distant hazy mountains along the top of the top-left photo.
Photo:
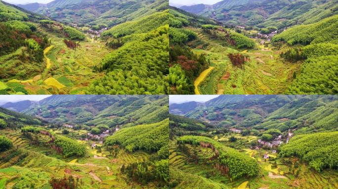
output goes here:
{"type": "Polygon", "coordinates": [[[105,24],[108,27],[141,18],[161,9],[165,0],[54,0],[18,5],[62,23],[105,24]]]}

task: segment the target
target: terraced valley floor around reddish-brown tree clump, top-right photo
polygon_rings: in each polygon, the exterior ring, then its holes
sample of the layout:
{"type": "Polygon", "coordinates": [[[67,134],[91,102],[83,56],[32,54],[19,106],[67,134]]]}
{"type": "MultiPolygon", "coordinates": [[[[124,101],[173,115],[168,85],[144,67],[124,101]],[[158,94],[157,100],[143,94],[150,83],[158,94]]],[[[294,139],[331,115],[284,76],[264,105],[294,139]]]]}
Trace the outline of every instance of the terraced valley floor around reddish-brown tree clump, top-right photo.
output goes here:
{"type": "Polygon", "coordinates": [[[205,54],[213,67],[203,81],[198,81],[200,94],[283,94],[292,82],[293,73],[299,70],[300,64],[284,63],[279,52],[259,45],[258,41],[254,49],[235,50],[226,41],[214,39],[201,29],[189,30],[197,33],[198,40],[208,44],[205,49],[198,46],[193,52],[205,54]],[[239,52],[251,60],[244,70],[234,67],[227,57],[228,53],[239,52]]]}

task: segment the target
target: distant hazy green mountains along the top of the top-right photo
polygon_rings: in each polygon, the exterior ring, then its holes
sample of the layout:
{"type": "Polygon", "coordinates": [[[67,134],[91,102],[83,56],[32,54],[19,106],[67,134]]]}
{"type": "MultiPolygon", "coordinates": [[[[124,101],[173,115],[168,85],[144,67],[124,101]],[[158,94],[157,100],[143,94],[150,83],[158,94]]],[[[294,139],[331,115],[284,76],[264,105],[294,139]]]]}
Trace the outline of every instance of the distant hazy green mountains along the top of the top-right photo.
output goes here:
{"type": "Polygon", "coordinates": [[[223,0],[211,6],[182,6],[230,26],[277,27],[311,24],[337,14],[337,0],[223,0]]]}

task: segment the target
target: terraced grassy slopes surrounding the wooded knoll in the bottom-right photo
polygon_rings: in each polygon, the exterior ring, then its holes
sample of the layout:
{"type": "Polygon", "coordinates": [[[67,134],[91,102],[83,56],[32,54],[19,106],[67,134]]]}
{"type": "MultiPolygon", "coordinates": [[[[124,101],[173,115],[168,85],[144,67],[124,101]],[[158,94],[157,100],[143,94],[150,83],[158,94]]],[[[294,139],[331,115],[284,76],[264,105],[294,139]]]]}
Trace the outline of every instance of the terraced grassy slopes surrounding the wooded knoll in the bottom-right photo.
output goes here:
{"type": "MultiPolygon", "coordinates": [[[[215,135],[214,139],[221,142],[225,146],[233,146],[234,142],[229,142],[230,135],[215,135]]],[[[239,137],[239,136],[236,136],[239,137]]],[[[250,155],[254,158],[261,169],[260,174],[262,177],[256,177],[249,180],[245,178],[231,181],[227,175],[221,175],[212,165],[213,161],[209,160],[213,156],[211,149],[202,148],[200,146],[187,145],[190,154],[198,154],[198,163],[191,162],[189,156],[177,149],[175,141],[170,141],[170,175],[172,181],[177,182],[177,189],[189,189],[192,186],[199,186],[204,189],[217,189],[217,188],[229,188],[240,189],[245,182],[249,181],[247,187],[250,189],[258,188],[273,188],[273,189],[292,189],[303,186],[306,189],[320,188],[326,186],[328,189],[334,189],[338,186],[337,172],[334,170],[324,170],[318,173],[311,169],[308,165],[301,163],[299,165],[299,175],[295,177],[292,172],[289,172],[289,164],[283,163],[282,159],[277,159],[277,168],[272,168],[273,161],[265,162],[263,155],[268,152],[270,157],[276,157],[276,154],[272,154],[271,151],[250,150],[247,149],[249,141],[252,141],[252,136],[239,137],[236,144],[240,151],[250,155]],[[281,177],[273,178],[272,175],[281,177]],[[207,176],[208,175],[208,176],[207,176]],[[286,176],[286,177],[285,177],[286,176]],[[209,178],[207,178],[209,177],[209,178]]],[[[235,145],[236,145],[235,144],[235,145]]],[[[288,159],[288,158],[285,158],[288,159]]],[[[297,159],[290,158],[291,161],[296,162],[297,159]]],[[[295,169],[296,172],[297,168],[295,169]]],[[[247,188],[245,188],[247,189],[247,188]]]]}

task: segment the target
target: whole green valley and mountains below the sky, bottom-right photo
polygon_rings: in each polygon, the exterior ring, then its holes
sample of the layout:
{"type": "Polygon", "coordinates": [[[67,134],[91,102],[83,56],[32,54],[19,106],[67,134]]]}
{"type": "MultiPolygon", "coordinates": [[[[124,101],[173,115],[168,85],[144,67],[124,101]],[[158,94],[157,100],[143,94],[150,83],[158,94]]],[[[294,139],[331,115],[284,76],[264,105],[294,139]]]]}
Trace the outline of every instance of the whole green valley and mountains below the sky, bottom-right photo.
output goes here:
{"type": "Polygon", "coordinates": [[[186,109],[189,103],[169,105],[171,187],[337,185],[337,96],[220,95],[186,109]]]}

